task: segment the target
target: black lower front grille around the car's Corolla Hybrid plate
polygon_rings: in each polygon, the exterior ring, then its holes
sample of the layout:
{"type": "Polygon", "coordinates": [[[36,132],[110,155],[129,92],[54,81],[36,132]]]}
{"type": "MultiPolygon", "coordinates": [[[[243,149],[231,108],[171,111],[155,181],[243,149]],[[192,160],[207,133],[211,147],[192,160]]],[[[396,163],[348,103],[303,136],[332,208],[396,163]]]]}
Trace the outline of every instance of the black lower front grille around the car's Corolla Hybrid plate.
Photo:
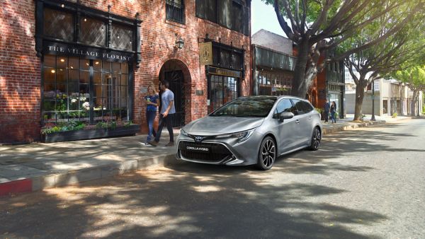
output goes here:
{"type": "Polygon", "coordinates": [[[222,144],[214,143],[195,143],[188,141],[181,141],[179,144],[179,151],[183,159],[193,160],[193,161],[208,161],[208,162],[220,162],[232,156],[232,152],[229,151],[222,144]],[[208,147],[210,151],[208,152],[193,152],[188,151],[186,148],[191,147],[208,147]]]}

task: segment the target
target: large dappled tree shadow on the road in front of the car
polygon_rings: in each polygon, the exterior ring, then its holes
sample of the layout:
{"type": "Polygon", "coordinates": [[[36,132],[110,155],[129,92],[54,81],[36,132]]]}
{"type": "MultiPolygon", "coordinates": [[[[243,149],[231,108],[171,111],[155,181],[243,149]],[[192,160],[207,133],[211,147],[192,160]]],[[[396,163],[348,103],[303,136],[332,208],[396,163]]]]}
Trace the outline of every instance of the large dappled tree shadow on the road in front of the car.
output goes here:
{"type": "Polygon", "coordinates": [[[344,224],[367,226],[386,219],[372,211],[309,202],[313,197],[344,191],[274,182],[277,171],[273,170],[180,163],[171,158],[166,167],[4,198],[0,202],[0,235],[376,238],[353,232],[344,224]]]}

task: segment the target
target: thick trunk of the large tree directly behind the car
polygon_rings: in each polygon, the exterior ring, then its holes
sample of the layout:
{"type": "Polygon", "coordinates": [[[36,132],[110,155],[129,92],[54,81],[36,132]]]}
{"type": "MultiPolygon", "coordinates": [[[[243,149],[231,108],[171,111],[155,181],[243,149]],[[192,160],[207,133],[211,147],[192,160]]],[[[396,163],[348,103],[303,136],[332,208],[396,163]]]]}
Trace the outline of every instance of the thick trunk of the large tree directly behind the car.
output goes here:
{"type": "Polygon", "coordinates": [[[300,98],[305,98],[305,94],[308,91],[308,86],[310,86],[310,82],[307,82],[308,79],[305,77],[309,50],[308,41],[304,40],[300,42],[300,45],[297,47],[298,54],[297,60],[295,62],[295,72],[291,94],[300,98]]]}

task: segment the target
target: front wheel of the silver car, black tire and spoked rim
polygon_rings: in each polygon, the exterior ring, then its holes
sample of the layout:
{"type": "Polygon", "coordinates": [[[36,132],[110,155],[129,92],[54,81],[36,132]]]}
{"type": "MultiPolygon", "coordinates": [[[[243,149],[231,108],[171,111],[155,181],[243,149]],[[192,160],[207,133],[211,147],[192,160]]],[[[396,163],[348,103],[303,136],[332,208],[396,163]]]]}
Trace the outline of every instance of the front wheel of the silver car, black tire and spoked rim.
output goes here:
{"type": "Polygon", "coordinates": [[[276,161],[276,143],[271,136],[261,141],[257,167],[261,170],[269,170],[276,161]]]}

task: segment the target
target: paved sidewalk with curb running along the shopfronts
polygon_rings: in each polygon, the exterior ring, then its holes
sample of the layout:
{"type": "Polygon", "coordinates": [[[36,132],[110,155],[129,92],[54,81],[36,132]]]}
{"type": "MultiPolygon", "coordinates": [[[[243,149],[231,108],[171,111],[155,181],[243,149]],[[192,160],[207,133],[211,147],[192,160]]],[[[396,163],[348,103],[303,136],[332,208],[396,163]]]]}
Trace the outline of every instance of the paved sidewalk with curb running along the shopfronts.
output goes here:
{"type": "MultiPolygon", "coordinates": [[[[370,122],[352,122],[353,115],[336,124],[323,124],[323,134],[384,124],[410,117],[376,117],[370,122]]],[[[178,136],[179,130],[174,130],[178,136]]],[[[159,146],[145,146],[146,135],[52,144],[0,146],[0,197],[18,192],[33,192],[50,187],[78,184],[111,177],[131,170],[162,164],[174,158],[176,146],[166,147],[168,132],[162,134],[159,146]]]]}

